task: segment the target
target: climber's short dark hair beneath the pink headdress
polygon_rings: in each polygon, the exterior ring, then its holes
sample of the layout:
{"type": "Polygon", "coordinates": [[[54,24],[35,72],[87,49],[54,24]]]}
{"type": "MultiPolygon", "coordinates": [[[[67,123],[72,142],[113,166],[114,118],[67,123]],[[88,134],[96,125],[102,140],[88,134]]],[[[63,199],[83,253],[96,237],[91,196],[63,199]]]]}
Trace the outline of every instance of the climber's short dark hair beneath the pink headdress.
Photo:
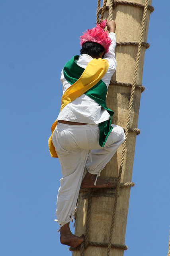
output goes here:
{"type": "Polygon", "coordinates": [[[96,42],[85,42],[82,45],[82,49],[80,50],[81,54],[88,54],[94,56],[99,56],[101,52],[104,52],[104,47],[96,42]]]}

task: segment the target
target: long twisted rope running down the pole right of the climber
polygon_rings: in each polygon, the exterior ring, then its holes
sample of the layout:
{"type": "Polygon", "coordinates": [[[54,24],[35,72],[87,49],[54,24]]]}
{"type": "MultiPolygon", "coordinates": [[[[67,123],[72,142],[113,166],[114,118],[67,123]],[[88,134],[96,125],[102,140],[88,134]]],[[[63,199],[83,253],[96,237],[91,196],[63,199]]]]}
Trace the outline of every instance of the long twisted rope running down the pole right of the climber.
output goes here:
{"type": "Polygon", "coordinates": [[[113,226],[114,226],[114,223],[115,223],[115,213],[116,213],[116,207],[117,207],[117,199],[118,199],[119,188],[120,188],[120,183],[121,183],[121,174],[122,174],[122,170],[123,170],[123,163],[124,163],[124,157],[125,157],[125,151],[126,151],[127,135],[128,135],[129,128],[130,128],[133,98],[134,98],[134,94],[135,94],[135,85],[136,85],[136,82],[137,82],[137,71],[138,71],[138,67],[139,67],[139,58],[140,58],[140,55],[141,55],[143,33],[144,33],[145,25],[146,25],[148,3],[149,3],[149,0],[146,0],[145,1],[144,12],[143,12],[143,19],[142,19],[141,34],[140,34],[140,39],[139,39],[137,59],[136,59],[136,64],[135,64],[135,74],[134,74],[134,79],[133,79],[131,98],[130,98],[130,102],[129,102],[129,113],[128,113],[128,117],[127,117],[127,125],[126,125],[126,131],[125,131],[125,137],[126,138],[125,138],[125,141],[123,143],[123,150],[122,150],[122,155],[121,155],[121,164],[120,164],[120,168],[119,168],[119,176],[118,176],[116,193],[115,193],[115,202],[114,202],[114,207],[113,207],[111,228],[110,228],[110,234],[109,234],[109,242],[108,242],[108,247],[107,247],[107,256],[110,255],[111,239],[112,239],[112,236],[113,236],[113,226]]]}

